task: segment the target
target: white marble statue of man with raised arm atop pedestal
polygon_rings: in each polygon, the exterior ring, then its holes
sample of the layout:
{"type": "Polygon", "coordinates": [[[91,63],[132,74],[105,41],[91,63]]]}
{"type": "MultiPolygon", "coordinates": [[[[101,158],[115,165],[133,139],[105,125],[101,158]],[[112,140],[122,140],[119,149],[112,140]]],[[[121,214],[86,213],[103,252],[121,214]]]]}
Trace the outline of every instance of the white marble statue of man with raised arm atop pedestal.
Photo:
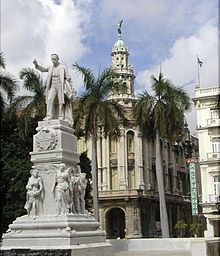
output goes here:
{"type": "Polygon", "coordinates": [[[59,62],[58,54],[51,54],[51,67],[42,67],[34,59],[35,68],[41,72],[48,72],[45,90],[47,115],[45,120],[62,119],[72,124],[71,97],[75,96],[71,84],[71,77],[64,65],[59,62]],[[66,100],[65,100],[66,98],[66,100]]]}

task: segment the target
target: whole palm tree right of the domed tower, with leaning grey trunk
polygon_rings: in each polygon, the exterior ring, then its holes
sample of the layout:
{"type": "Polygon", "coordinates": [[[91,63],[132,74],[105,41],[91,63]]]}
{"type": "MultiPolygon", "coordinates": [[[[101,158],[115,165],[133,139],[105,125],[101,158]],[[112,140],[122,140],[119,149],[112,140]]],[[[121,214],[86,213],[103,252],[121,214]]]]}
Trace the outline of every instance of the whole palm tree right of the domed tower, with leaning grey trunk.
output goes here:
{"type": "Polygon", "coordinates": [[[143,136],[154,138],[156,144],[156,177],[160,202],[162,236],[169,237],[168,216],[165,202],[162,152],[160,138],[170,142],[181,138],[184,128],[184,111],[190,108],[190,98],[181,88],[159,74],[151,77],[153,95],[144,91],[134,106],[134,117],[143,136]]]}

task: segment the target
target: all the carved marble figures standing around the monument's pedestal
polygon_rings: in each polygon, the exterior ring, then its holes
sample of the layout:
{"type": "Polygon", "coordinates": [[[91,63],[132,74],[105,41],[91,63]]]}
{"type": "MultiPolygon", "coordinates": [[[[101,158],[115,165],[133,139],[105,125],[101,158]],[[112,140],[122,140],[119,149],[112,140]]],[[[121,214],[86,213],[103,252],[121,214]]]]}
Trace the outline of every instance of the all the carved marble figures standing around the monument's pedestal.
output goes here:
{"type": "MultiPolygon", "coordinates": [[[[46,170],[55,170],[56,175],[51,189],[56,203],[57,215],[85,214],[86,174],[81,173],[80,166],[66,167],[65,164],[46,166],[46,170]]],[[[39,208],[44,199],[43,181],[38,170],[33,166],[28,180],[25,209],[33,219],[39,215],[39,208]]]]}

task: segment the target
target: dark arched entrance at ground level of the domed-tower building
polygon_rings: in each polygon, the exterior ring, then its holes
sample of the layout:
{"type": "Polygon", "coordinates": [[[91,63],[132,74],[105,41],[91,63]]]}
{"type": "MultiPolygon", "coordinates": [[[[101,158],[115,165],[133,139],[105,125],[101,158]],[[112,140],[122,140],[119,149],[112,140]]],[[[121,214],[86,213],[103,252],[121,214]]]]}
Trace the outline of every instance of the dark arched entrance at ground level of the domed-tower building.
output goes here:
{"type": "Polygon", "coordinates": [[[125,238],[125,213],[120,208],[111,208],[106,213],[107,238],[125,238]]]}

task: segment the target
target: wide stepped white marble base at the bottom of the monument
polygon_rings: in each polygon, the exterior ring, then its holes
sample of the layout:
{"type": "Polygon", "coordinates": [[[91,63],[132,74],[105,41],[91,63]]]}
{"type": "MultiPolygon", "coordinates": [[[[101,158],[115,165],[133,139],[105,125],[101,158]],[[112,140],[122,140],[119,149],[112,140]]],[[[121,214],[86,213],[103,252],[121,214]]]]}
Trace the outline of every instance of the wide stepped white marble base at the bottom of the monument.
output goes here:
{"type": "Polygon", "coordinates": [[[5,256],[112,255],[99,222],[87,214],[19,217],[4,234],[1,249],[5,256]]]}

